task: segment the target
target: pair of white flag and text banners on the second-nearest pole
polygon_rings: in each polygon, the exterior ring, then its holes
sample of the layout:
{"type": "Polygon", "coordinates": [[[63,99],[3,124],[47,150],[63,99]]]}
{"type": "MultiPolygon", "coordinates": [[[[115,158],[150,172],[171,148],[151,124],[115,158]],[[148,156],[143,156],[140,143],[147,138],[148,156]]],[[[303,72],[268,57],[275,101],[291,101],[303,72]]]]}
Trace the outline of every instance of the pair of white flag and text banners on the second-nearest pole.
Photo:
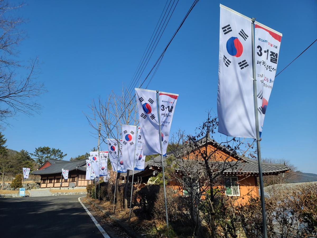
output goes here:
{"type": "Polygon", "coordinates": [[[159,92],[159,103],[157,92],[148,89],[135,89],[137,107],[139,113],[140,127],[143,136],[143,154],[160,154],[160,141],[162,141],[162,152],[166,154],[169,141],[171,123],[175,111],[178,94],[159,92]],[[157,103],[159,108],[157,108],[157,103]],[[159,137],[158,113],[161,121],[161,135],[159,137]]]}

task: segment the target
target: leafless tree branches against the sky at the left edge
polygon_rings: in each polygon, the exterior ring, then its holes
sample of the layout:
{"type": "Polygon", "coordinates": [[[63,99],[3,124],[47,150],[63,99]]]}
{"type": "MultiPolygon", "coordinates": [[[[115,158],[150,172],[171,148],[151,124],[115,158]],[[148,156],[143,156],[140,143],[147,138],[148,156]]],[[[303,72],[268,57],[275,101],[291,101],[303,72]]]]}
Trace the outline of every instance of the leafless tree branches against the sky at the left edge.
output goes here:
{"type": "Polygon", "coordinates": [[[11,5],[0,0],[0,121],[8,124],[7,118],[17,113],[33,115],[39,113],[41,105],[36,98],[46,92],[42,83],[36,82],[38,59],[29,65],[17,60],[16,46],[25,38],[19,28],[23,19],[15,16],[15,10],[23,5],[11,5]],[[16,69],[28,70],[26,76],[19,76],[16,69]]]}

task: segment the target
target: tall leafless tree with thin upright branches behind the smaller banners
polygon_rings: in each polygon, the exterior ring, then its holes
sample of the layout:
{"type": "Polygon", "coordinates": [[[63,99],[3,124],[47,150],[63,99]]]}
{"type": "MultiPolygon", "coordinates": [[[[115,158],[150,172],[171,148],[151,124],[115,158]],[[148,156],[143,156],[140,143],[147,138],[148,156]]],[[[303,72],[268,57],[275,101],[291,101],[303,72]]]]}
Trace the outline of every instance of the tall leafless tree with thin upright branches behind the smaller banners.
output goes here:
{"type": "MultiPolygon", "coordinates": [[[[89,107],[90,113],[86,113],[86,117],[90,126],[94,129],[93,135],[97,136],[99,122],[101,122],[101,140],[107,144],[107,138],[121,137],[122,124],[136,125],[138,122],[136,113],[136,101],[134,95],[132,95],[126,88],[122,86],[120,95],[115,94],[113,91],[107,97],[106,101],[103,101],[101,97],[98,97],[97,102],[94,100],[89,107]]],[[[127,185],[129,182],[129,170],[126,174],[126,183],[123,191],[124,209],[127,210],[127,185]]],[[[117,174],[117,183],[120,178],[120,173],[117,174]]],[[[117,186],[116,191],[117,205],[116,209],[121,206],[119,188],[117,186]]]]}

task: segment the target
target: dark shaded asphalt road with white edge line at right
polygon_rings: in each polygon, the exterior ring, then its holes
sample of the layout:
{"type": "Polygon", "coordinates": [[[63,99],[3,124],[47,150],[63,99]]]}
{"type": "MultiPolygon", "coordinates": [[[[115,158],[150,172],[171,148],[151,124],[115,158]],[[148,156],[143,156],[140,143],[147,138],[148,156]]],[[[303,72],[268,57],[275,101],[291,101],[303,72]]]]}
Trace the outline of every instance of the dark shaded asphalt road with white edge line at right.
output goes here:
{"type": "Polygon", "coordinates": [[[103,238],[78,202],[82,196],[0,199],[0,237],[103,238]]]}

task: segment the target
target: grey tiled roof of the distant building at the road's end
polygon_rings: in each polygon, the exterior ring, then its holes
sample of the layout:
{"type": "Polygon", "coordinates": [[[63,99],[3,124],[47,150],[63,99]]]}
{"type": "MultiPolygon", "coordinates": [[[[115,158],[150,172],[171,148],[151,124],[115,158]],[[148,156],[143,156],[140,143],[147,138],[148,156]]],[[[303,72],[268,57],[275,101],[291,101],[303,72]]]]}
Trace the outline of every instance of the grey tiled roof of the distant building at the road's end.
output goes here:
{"type": "Polygon", "coordinates": [[[66,160],[48,160],[50,165],[49,167],[41,170],[32,171],[31,174],[34,175],[44,175],[44,174],[58,174],[61,173],[61,169],[68,169],[69,171],[78,170],[86,171],[86,159],[66,161],[66,160]]]}

